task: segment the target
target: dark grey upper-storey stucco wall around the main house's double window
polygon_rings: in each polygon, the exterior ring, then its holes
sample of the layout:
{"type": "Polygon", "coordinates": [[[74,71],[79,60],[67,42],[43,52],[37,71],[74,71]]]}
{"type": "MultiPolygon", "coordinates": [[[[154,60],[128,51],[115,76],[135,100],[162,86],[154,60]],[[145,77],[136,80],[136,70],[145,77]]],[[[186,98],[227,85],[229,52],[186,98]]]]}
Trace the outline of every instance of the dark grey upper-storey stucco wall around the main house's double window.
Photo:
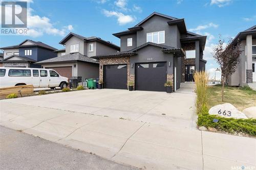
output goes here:
{"type": "MultiPolygon", "coordinates": [[[[173,46],[173,47],[180,47],[180,42],[178,37],[180,37],[180,33],[178,27],[176,25],[169,26],[167,21],[170,19],[164,18],[161,16],[153,16],[146,22],[144,22],[141,27],[143,30],[137,31],[137,46],[140,46],[146,43],[146,34],[158,31],[164,31],[165,33],[165,43],[164,45],[173,46]]],[[[121,46],[122,48],[122,46],[121,46]]]]}

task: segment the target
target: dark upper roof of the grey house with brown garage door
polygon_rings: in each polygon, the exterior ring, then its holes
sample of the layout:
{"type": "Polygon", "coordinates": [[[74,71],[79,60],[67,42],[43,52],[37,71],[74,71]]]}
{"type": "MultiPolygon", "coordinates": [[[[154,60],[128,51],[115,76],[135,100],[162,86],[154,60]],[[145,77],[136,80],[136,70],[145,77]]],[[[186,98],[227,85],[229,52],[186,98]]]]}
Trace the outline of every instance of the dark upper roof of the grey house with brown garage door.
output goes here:
{"type": "Polygon", "coordinates": [[[99,38],[99,37],[95,37],[95,36],[92,36],[92,37],[83,37],[83,36],[81,36],[81,35],[78,35],[78,34],[75,34],[75,33],[72,33],[72,32],[70,32],[65,38],[63,38],[60,42],[59,42],[59,44],[65,44],[71,37],[73,37],[73,36],[75,36],[75,37],[77,37],[77,38],[79,38],[79,39],[81,39],[81,40],[83,40],[83,41],[86,41],[86,42],[93,42],[93,41],[98,41],[98,42],[101,42],[101,43],[103,43],[103,44],[105,44],[105,45],[109,45],[109,46],[111,46],[111,47],[113,47],[113,48],[116,48],[116,50],[118,50],[118,51],[120,51],[120,47],[119,46],[117,46],[116,44],[113,44],[113,43],[111,43],[110,41],[105,41],[105,40],[103,40],[103,39],[101,39],[101,38],[99,38]]]}

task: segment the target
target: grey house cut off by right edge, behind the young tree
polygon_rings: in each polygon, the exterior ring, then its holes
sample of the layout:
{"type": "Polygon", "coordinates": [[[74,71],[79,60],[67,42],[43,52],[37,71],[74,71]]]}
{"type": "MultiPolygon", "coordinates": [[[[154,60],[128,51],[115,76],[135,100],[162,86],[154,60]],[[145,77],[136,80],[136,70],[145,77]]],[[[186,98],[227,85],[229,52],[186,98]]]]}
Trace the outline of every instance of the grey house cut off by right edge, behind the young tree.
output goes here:
{"type": "Polygon", "coordinates": [[[236,72],[228,78],[228,85],[249,85],[256,89],[256,25],[240,32],[231,43],[236,44],[238,40],[243,52],[240,55],[240,63],[236,72]]]}

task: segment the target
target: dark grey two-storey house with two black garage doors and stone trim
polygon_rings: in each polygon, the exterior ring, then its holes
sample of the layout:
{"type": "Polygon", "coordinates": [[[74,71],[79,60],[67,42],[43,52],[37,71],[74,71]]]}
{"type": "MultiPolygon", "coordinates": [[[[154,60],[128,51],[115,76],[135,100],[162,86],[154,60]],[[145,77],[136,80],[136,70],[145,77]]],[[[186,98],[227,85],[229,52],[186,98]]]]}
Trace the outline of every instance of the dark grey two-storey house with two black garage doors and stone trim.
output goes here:
{"type": "Polygon", "coordinates": [[[195,70],[205,70],[206,36],[188,32],[184,19],[152,13],[136,26],[113,34],[121,51],[96,55],[104,88],[165,91],[164,83],[193,82],[195,70]]]}

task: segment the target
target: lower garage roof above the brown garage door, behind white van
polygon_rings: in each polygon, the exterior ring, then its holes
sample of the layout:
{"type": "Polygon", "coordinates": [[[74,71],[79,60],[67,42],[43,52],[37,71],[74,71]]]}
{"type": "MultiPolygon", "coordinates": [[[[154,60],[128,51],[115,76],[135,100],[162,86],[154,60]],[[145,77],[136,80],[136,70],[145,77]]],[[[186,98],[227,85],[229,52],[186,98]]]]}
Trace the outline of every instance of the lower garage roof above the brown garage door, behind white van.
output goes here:
{"type": "Polygon", "coordinates": [[[54,57],[50,58],[48,60],[43,60],[36,62],[35,64],[45,64],[45,63],[60,63],[60,62],[76,62],[76,61],[83,61],[83,62],[89,62],[89,63],[99,63],[92,58],[88,56],[84,56],[80,53],[72,53],[72,54],[66,54],[60,57],[54,57]]]}

